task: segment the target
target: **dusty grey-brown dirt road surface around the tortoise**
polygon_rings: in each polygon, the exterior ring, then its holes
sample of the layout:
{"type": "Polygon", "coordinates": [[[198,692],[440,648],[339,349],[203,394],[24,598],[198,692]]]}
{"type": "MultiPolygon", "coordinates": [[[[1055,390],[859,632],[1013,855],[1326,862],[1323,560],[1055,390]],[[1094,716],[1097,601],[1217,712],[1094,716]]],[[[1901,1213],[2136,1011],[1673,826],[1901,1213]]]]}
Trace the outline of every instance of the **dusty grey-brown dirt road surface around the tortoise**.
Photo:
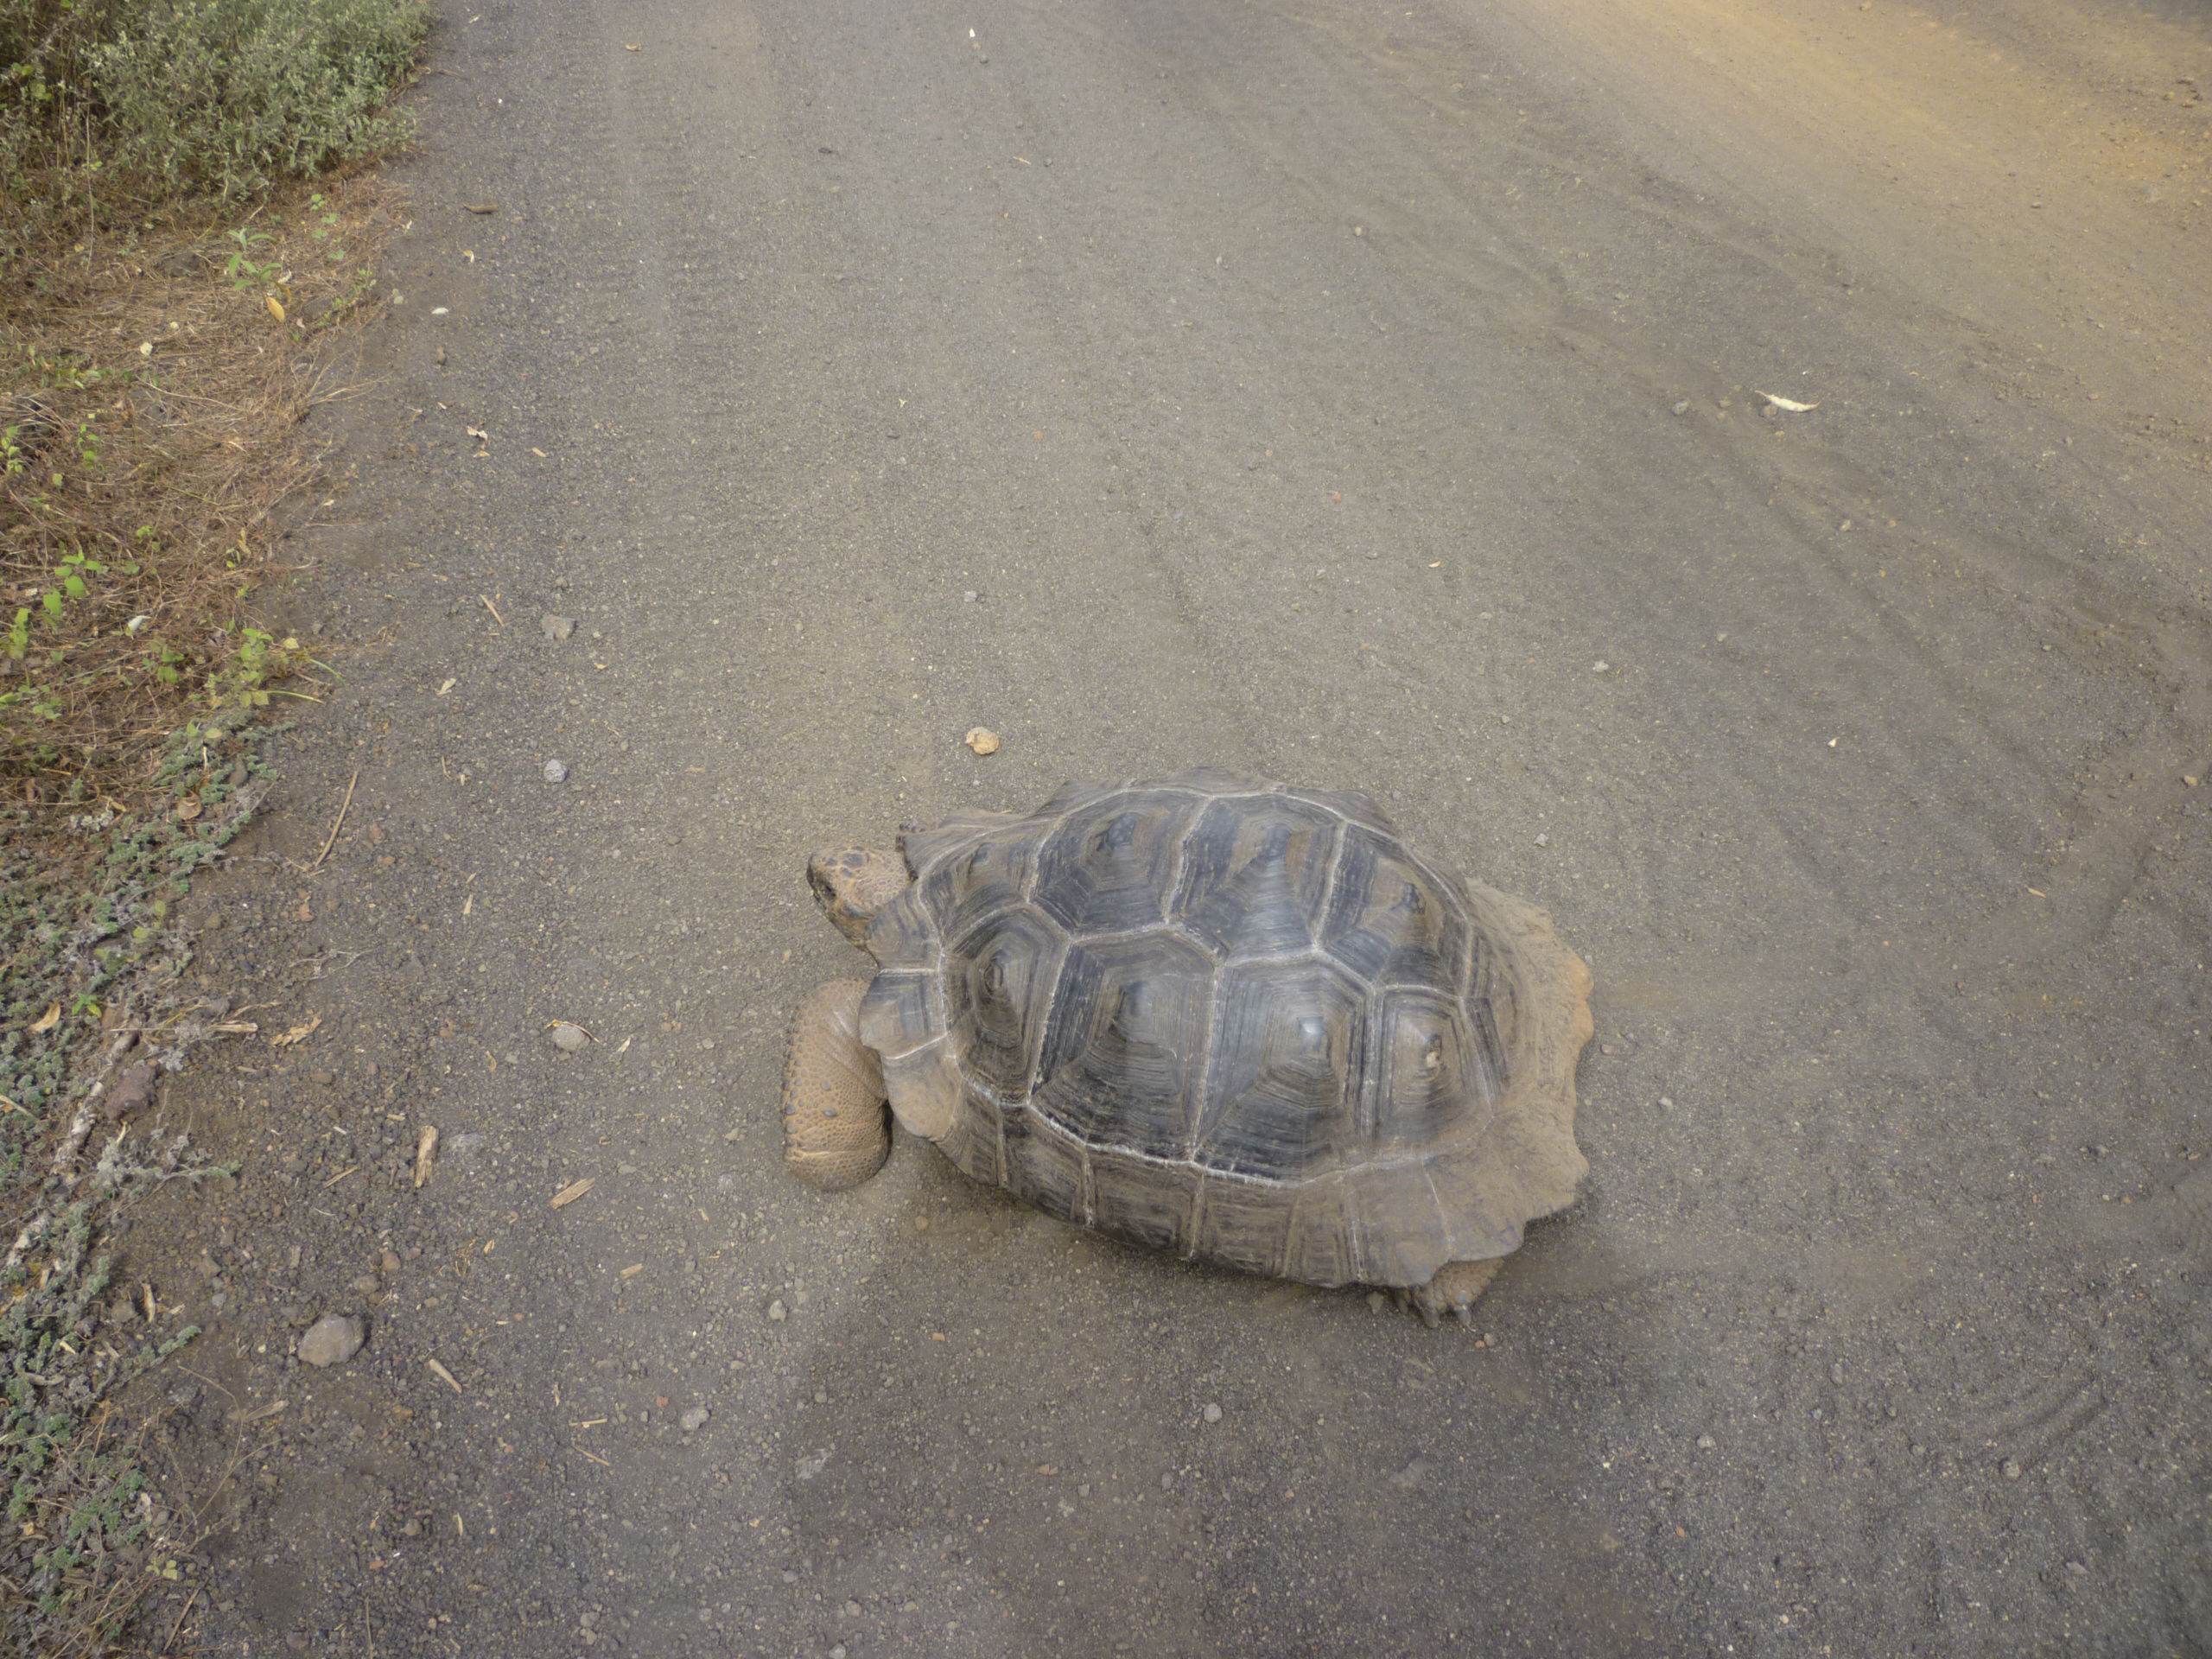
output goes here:
{"type": "Polygon", "coordinates": [[[212,1312],[159,1626],[2212,1652],[2201,7],[533,0],[436,64],[283,617],[347,688],[199,916],[321,1026],[168,1091],[246,1175],[124,1241],[212,1312]],[[810,847],[1192,761],[1595,964],[1588,1199],[1480,1338],[779,1172],[810,847]]]}

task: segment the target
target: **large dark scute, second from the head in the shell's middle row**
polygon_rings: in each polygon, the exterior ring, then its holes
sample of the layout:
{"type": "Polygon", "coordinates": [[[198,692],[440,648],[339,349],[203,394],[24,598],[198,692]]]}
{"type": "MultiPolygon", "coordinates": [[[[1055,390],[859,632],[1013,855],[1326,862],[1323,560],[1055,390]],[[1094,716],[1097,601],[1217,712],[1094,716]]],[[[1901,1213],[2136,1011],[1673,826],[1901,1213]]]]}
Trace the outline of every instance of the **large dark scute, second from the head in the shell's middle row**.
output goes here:
{"type": "Polygon", "coordinates": [[[1031,1104],[1093,1146],[1183,1157],[1212,998],[1212,960],[1179,933],[1075,945],[1031,1104]]]}

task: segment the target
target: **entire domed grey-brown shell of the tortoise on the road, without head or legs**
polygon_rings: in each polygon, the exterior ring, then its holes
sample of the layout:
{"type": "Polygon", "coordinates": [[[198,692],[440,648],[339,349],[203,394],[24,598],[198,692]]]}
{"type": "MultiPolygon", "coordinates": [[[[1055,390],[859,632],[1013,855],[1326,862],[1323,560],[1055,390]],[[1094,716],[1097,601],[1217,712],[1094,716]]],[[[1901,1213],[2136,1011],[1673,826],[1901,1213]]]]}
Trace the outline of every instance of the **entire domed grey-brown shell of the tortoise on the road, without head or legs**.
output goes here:
{"type": "Polygon", "coordinates": [[[1422,1285],[1573,1201],[1582,958],[1365,794],[1068,783],[900,852],[860,1040],[978,1181],[1312,1285],[1422,1285]]]}

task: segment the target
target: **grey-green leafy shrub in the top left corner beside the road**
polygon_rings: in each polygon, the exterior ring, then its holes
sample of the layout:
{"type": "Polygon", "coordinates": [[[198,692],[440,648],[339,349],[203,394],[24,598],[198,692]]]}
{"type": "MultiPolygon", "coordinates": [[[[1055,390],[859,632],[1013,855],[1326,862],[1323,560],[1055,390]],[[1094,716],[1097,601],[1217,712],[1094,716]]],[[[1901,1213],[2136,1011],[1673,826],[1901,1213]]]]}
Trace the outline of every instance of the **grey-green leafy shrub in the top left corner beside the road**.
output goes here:
{"type": "Polygon", "coordinates": [[[234,197],[358,159],[409,135],[385,102],[427,27],[427,0],[0,0],[9,184],[234,197]]]}

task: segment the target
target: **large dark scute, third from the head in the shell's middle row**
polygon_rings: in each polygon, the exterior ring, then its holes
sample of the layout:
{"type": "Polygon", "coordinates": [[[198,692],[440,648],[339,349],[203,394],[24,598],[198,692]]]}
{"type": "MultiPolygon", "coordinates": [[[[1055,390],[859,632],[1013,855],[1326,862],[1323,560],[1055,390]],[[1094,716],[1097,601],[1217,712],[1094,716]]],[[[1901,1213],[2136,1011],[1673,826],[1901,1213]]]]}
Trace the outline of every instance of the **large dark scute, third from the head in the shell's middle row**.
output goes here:
{"type": "Polygon", "coordinates": [[[1360,1157],[1367,998],[1367,987],[1318,956],[1225,967],[1197,1159],[1303,1181],[1360,1157]]]}

